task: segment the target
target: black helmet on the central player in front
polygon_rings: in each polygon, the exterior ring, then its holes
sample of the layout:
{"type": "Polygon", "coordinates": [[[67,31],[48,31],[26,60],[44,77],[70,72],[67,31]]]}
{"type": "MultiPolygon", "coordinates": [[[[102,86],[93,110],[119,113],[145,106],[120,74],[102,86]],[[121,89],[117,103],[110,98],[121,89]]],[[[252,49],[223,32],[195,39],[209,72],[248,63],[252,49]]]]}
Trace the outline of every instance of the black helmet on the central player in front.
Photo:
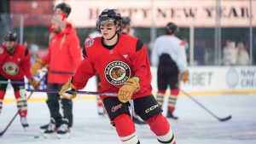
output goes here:
{"type": "Polygon", "coordinates": [[[122,31],[122,17],[117,9],[105,9],[102,11],[102,14],[99,15],[96,22],[96,26],[99,30],[101,23],[105,21],[113,21],[115,25],[120,27],[118,32],[122,31]]]}

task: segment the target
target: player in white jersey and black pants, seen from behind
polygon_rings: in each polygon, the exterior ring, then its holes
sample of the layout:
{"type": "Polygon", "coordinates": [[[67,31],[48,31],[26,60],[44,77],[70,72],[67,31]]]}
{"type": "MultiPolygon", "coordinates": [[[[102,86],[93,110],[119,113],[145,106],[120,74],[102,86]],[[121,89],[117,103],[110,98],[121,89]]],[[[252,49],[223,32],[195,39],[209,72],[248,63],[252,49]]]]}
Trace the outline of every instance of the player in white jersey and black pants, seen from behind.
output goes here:
{"type": "Polygon", "coordinates": [[[166,26],[167,35],[160,36],[155,40],[152,52],[152,66],[158,66],[156,100],[162,107],[167,86],[170,86],[171,95],[168,98],[167,118],[177,119],[173,116],[177,95],[179,93],[179,73],[181,80],[189,80],[189,71],[183,41],[177,38],[177,25],[170,22],[166,26]]]}

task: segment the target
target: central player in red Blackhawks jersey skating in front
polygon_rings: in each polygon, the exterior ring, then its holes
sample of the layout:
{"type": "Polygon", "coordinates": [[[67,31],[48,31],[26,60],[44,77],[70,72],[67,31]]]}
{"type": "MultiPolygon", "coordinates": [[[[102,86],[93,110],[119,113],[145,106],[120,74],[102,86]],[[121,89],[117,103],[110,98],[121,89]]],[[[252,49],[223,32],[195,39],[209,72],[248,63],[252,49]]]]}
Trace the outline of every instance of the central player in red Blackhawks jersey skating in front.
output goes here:
{"type": "Polygon", "coordinates": [[[78,71],[60,90],[62,98],[73,99],[89,78],[99,73],[101,92],[118,93],[118,97],[101,95],[111,123],[124,144],[140,143],[129,112],[134,101],[135,112],[143,118],[160,143],[176,143],[162,109],[152,95],[151,72],[147,49],[137,37],[119,34],[121,15],[116,9],[105,9],[99,15],[97,27],[102,37],[84,44],[84,60],[78,71]]]}

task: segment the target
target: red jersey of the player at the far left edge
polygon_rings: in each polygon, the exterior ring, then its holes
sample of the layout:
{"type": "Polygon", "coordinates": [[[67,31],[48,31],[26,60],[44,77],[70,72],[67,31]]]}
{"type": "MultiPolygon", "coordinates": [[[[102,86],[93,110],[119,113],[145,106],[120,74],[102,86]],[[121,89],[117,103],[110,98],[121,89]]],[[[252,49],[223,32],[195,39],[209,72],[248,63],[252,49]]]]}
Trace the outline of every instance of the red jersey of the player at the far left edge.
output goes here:
{"type": "Polygon", "coordinates": [[[0,46],[0,73],[10,80],[22,80],[24,76],[31,78],[30,55],[28,50],[20,45],[15,45],[15,53],[10,55],[4,45],[0,46]]]}

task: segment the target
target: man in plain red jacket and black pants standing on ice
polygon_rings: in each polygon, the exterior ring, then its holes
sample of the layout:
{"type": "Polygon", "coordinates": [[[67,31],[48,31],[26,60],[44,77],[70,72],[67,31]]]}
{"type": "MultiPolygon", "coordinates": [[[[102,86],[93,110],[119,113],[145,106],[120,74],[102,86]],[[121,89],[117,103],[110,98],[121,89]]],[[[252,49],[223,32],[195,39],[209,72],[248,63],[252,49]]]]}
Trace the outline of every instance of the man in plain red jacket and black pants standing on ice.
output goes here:
{"type": "MultiPolygon", "coordinates": [[[[32,74],[48,65],[48,89],[61,89],[61,85],[67,82],[82,60],[79,37],[75,28],[67,22],[67,16],[71,8],[66,3],[61,3],[55,10],[64,13],[54,14],[52,18],[52,29],[54,34],[49,39],[48,54],[36,60],[31,66],[32,74]]],[[[44,131],[45,136],[57,131],[58,136],[65,135],[73,125],[73,101],[61,100],[63,117],[60,111],[60,95],[48,94],[46,101],[50,112],[50,123],[44,131]]]]}

